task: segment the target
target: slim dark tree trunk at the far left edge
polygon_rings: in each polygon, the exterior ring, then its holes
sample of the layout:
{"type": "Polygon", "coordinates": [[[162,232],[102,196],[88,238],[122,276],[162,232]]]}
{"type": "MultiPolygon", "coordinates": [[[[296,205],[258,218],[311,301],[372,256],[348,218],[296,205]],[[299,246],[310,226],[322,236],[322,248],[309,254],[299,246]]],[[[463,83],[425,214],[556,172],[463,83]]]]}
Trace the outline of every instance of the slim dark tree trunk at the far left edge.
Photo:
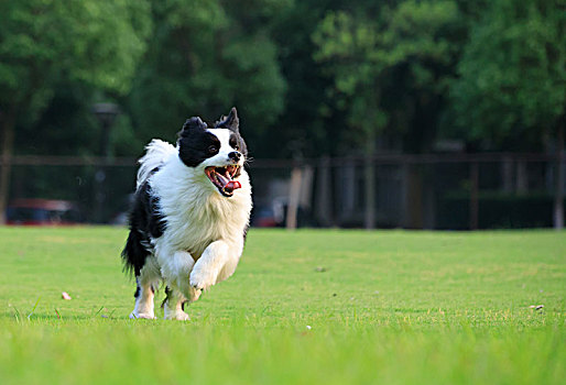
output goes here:
{"type": "Polygon", "coordinates": [[[12,169],[12,154],[14,142],[15,113],[13,110],[0,116],[0,127],[2,133],[2,154],[0,166],[0,224],[6,223],[6,208],[8,206],[8,195],[10,194],[10,174],[12,169]]]}

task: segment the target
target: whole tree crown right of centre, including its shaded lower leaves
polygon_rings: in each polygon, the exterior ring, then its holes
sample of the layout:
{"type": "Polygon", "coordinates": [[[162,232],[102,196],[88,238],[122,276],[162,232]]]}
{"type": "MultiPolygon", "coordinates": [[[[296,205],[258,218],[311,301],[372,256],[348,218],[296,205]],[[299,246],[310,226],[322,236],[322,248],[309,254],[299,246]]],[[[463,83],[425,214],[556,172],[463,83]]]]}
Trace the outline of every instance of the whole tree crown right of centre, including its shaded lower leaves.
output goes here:
{"type": "MultiPolygon", "coordinates": [[[[329,12],[313,35],[315,58],[327,63],[335,79],[330,92],[350,124],[368,135],[387,127],[406,132],[415,120],[425,121],[420,111],[437,109],[428,101],[446,90],[458,20],[451,0],[401,1],[383,6],[378,16],[360,9],[329,12]]],[[[420,129],[433,130],[434,119],[420,129]]]]}

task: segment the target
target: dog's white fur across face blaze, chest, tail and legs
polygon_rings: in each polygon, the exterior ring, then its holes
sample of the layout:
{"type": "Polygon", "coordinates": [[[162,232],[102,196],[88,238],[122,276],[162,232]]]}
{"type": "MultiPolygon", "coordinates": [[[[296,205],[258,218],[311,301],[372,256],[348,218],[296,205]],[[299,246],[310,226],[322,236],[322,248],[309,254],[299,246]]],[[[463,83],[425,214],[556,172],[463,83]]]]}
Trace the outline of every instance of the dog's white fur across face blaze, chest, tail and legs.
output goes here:
{"type": "MultiPolygon", "coordinates": [[[[152,193],[159,197],[166,229],[153,241],[153,255],[141,271],[141,294],[131,317],[153,317],[153,295],[148,295],[148,287],[164,279],[175,299],[165,304],[165,319],[186,320],[183,301],[198,299],[203,290],[236,271],[252,207],[251,185],[243,167],[237,178],[241,188],[229,198],[208,179],[206,167],[233,164],[228,157],[233,151],[228,144],[230,132],[209,131],[220,140],[220,151],[196,167],[186,166],[178,157],[178,148],[160,140],[153,140],[140,160],[138,187],[149,180],[152,193]],[[157,166],[159,172],[151,174],[157,166]]],[[[243,166],[243,162],[242,157],[239,165],[243,166]]]]}

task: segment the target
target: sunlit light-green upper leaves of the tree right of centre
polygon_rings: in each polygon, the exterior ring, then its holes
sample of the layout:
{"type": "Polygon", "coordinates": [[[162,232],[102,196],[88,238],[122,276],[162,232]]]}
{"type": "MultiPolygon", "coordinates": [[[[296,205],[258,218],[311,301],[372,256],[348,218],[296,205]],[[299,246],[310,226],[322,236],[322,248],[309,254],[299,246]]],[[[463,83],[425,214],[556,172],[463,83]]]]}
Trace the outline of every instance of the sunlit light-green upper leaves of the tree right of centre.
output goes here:
{"type": "Polygon", "coordinates": [[[379,86],[388,69],[411,59],[415,86],[436,86],[423,64],[449,64],[449,41],[439,33],[456,18],[453,1],[404,1],[395,9],[384,7],[378,20],[331,12],[313,37],[320,46],[315,57],[336,59],[330,64],[336,88],[349,96],[359,87],[379,86]]]}

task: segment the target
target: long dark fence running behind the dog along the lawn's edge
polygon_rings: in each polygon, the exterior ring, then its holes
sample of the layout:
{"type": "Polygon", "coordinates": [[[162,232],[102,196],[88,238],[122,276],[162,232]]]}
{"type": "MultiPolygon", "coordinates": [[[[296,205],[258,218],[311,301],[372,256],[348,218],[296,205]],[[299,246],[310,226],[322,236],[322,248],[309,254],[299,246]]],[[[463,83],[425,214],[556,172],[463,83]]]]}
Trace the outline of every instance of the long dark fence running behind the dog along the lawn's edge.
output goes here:
{"type": "MultiPolygon", "coordinates": [[[[257,160],[249,173],[255,226],[541,228],[557,204],[545,154],[257,160]]],[[[123,223],[134,177],[133,158],[17,156],[10,198],[69,200],[85,221],[123,223]]]]}

